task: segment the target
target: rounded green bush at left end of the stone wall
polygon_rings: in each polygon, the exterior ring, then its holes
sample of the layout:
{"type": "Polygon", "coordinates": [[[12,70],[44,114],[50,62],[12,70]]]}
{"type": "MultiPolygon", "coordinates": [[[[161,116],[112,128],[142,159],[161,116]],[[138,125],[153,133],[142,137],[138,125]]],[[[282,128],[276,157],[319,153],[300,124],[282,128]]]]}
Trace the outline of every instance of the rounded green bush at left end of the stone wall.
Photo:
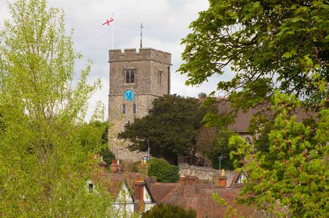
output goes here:
{"type": "Polygon", "coordinates": [[[149,176],[155,176],[160,183],[176,183],[179,180],[179,167],[162,158],[151,158],[148,170],[149,176]]]}

